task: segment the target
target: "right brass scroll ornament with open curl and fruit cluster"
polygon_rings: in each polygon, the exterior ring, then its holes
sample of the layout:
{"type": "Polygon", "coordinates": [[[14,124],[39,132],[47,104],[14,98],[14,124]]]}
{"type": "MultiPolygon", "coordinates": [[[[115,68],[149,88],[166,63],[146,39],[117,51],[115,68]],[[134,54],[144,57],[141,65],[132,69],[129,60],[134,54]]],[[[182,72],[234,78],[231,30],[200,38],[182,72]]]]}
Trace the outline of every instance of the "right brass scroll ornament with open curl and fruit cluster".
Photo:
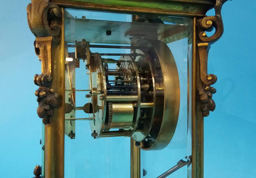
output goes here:
{"type": "Polygon", "coordinates": [[[199,54],[200,62],[200,79],[203,82],[201,88],[199,88],[199,95],[201,101],[201,110],[203,111],[203,116],[209,116],[210,111],[215,110],[215,102],[212,99],[212,94],[216,93],[216,89],[211,87],[216,81],[217,76],[214,74],[208,74],[207,64],[208,64],[208,54],[211,48],[211,44],[216,42],[223,34],[223,21],[221,17],[222,3],[227,0],[216,0],[214,6],[215,16],[206,16],[199,21],[199,35],[197,42],[197,49],[199,54]],[[215,33],[211,36],[207,36],[205,31],[212,31],[215,29],[215,33]]]}

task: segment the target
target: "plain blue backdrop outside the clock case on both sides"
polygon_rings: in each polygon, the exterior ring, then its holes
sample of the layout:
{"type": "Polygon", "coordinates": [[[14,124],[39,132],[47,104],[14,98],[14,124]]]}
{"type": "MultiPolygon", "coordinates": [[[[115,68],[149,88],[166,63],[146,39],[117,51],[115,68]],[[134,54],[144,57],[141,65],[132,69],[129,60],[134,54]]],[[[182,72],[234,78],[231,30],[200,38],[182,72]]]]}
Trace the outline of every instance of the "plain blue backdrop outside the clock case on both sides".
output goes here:
{"type": "MultiPolygon", "coordinates": [[[[32,177],[34,166],[41,164],[41,119],[33,84],[41,64],[27,25],[28,3],[2,0],[0,6],[0,177],[32,177]]],[[[218,81],[217,107],[204,124],[206,178],[256,175],[255,8],[250,0],[225,3],[224,34],[210,50],[208,72],[218,81]]]]}

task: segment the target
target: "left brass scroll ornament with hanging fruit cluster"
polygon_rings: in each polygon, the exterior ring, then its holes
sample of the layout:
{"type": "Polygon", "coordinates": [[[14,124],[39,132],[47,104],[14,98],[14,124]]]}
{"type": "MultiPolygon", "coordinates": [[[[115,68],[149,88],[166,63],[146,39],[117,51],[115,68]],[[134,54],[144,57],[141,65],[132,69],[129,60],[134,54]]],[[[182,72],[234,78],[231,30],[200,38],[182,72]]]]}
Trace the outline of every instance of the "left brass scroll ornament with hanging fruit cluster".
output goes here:
{"type": "Polygon", "coordinates": [[[58,106],[59,95],[51,88],[52,85],[52,53],[59,43],[61,10],[49,0],[31,0],[27,6],[28,25],[36,36],[35,52],[42,63],[42,73],[36,74],[34,83],[39,86],[35,95],[38,97],[37,114],[49,124],[49,117],[58,106]]]}

